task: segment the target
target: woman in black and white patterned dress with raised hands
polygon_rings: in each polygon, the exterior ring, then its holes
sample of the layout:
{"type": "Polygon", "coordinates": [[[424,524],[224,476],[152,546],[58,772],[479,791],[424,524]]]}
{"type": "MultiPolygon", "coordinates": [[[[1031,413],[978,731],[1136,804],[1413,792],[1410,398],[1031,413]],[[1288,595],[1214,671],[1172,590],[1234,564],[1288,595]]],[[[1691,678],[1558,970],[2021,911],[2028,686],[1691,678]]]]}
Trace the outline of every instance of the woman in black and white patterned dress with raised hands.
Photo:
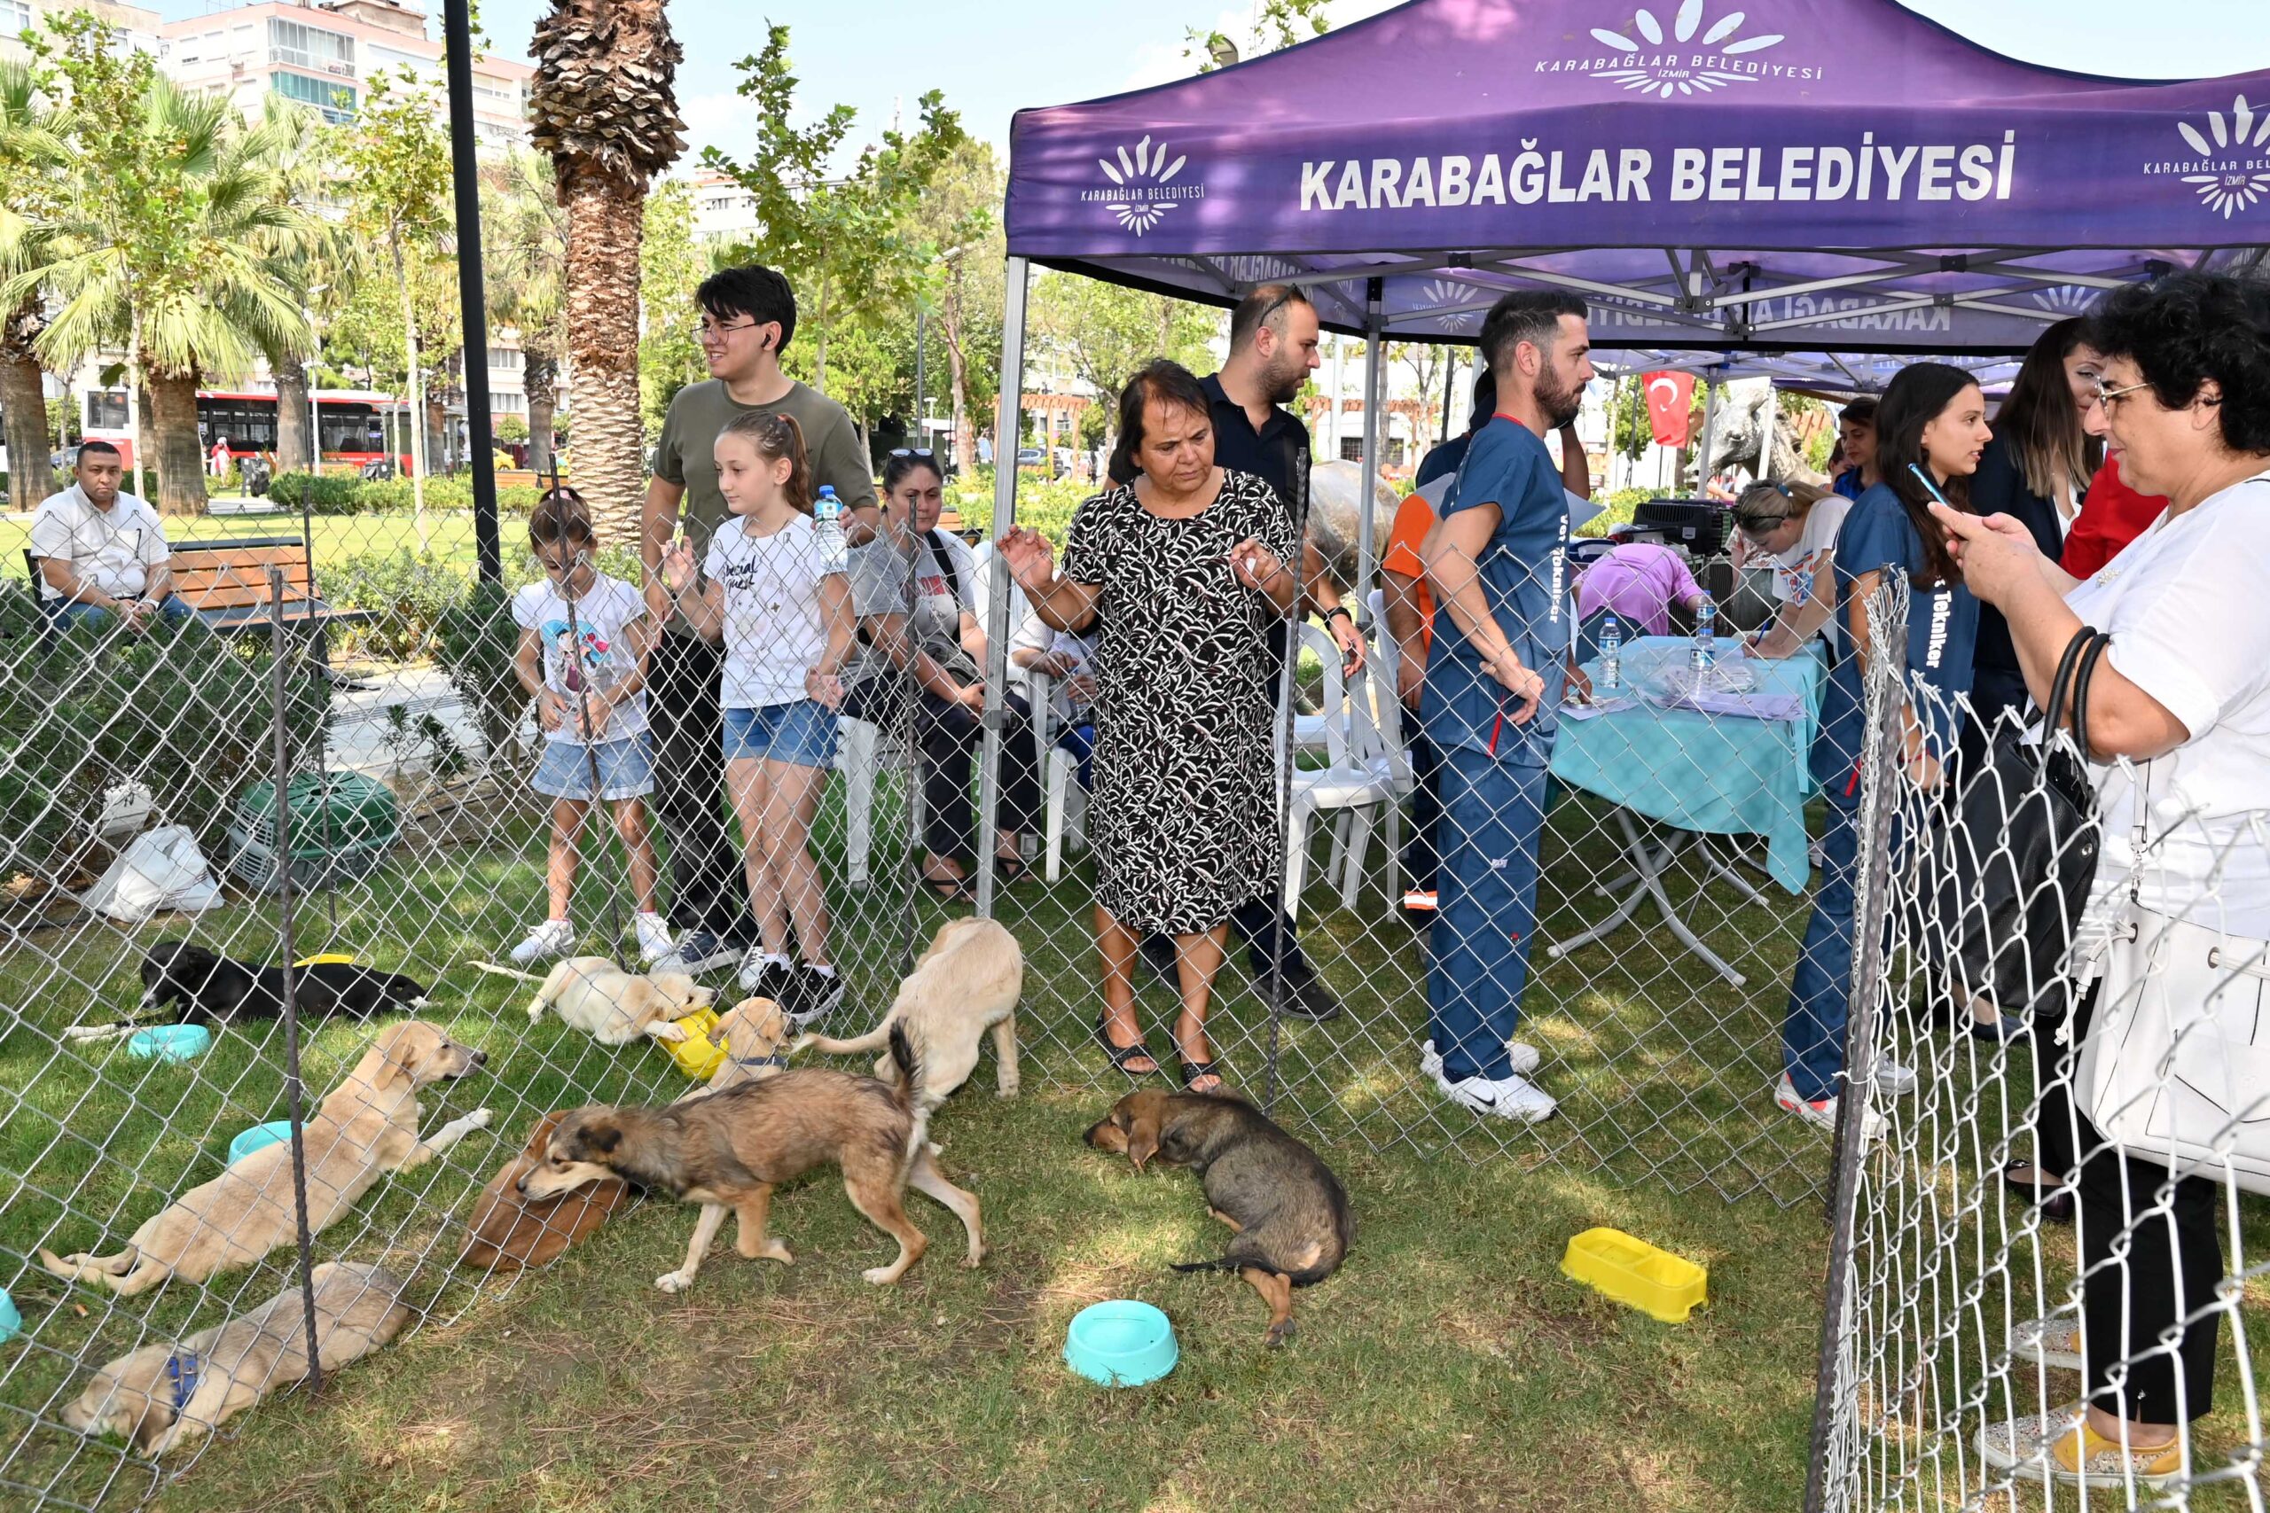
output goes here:
{"type": "Polygon", "coordinates": [[[1183,1084],[1221,1084],[1205,1009],[1230,910],[1276,885],[1276,658],[1269,631],[1292,608],[1292,517],[1253,474],[1214,467],[1205,390],[1176,363],[1137,372],[1119,397],[1119,449],[1135,483],[1071,517],[1065,569],[1017,529],[1003,560],[1042,622],[1096,633],[1096,1037],[1130,1075],[1158,1071],[1135,1023],[1135,946],[1171,935],[1183,1014],[1183,1084]]]}

